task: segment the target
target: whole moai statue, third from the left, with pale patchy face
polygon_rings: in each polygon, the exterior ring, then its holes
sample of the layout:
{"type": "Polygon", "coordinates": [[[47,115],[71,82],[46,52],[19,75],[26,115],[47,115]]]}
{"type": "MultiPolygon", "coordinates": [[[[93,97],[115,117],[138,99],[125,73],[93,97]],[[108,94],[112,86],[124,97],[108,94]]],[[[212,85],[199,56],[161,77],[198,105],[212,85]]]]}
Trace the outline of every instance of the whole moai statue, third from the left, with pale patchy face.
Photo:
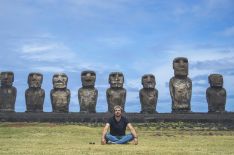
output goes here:
{"type": "Polygon", "coordinates": [[[68,77],[64,73],[54,74],[53,87],[50,99],[53,112],[68,112],[70,103],[70,90],[67,89],[68,77]]]}

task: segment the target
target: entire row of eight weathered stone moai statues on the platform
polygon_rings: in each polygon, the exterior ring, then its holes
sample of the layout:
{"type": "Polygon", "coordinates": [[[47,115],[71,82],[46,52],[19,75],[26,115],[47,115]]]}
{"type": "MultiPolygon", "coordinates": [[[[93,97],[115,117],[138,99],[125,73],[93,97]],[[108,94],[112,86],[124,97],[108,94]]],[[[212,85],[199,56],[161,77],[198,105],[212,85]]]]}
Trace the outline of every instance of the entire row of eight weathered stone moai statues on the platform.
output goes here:
{"type": "MultiPolygon", "coordinates": [[[[178,57],[173,60],[174,77],[170,79],[169,88],[172,99],[172,112],[190,112],[192,80],[188,77],[188,59],[178,57]]],[[[223,88],[223,77],[211,74],[208,77],[210,87],[206,90],[208,112],[225,112],[226,91],[223,88]]],[[[1,72],[0,111],[15,111],[17,90],[12,86],[13,72],[1,72]]],[[[29,88],[25,91],[26,112],[43,112],[45,91],[41,88],[43,75],[30,73],[28,75],[29,88]]],[[[50,92],[53,112],[69,112],[70,90],[67,89],[68,77],[64,73],[54,74],[53,89],[50,92]]],[[[96,73],[83,71],[81,73],[82,87],[78,90],[80,112],[95,113],[98,90],[95,88],[96,73]]],[[[143,88],[139,92],[141,113],[155,113],[158,90],[156,80],[152,74],[142,76],[143,88]]],[[[106,91],[108,112],[113,112],[115,105],[125,107],[126,89],[123,88],[124,75],[112,72],[109,75],[110,88],[106,91]]]]}

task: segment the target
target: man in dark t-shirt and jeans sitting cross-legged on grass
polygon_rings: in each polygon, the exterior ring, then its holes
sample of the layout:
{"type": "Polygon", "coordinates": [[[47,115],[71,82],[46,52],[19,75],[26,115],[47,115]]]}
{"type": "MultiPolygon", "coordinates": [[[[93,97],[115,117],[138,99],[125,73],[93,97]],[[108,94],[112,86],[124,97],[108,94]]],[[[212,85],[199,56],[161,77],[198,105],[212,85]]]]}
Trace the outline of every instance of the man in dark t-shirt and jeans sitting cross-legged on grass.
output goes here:
{"type": "Polygon", "coordinates": [[[114,107],[114,116],[109,118],[102,132],[101,144],[126,144],[133,141],[137,145],[137,133],[128,119],[122,116],[121,106],[114,107]],[[130,129],[131,134],[125,134],[126,127],[130,129]],[[110,128],[110,133],[107,133],[110,128]]]}

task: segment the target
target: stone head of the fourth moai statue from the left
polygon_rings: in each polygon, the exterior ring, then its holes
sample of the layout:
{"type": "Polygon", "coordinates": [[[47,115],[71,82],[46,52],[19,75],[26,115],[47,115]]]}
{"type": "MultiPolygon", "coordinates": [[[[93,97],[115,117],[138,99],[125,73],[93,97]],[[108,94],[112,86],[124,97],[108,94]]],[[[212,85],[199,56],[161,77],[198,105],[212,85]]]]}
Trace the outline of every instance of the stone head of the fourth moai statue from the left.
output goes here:
{"type": "Polygon", "coordinates": [[[94,71],[83,71],[81,73],[81,81],[83,87],[94,87],[96,73],[94,71]]]}

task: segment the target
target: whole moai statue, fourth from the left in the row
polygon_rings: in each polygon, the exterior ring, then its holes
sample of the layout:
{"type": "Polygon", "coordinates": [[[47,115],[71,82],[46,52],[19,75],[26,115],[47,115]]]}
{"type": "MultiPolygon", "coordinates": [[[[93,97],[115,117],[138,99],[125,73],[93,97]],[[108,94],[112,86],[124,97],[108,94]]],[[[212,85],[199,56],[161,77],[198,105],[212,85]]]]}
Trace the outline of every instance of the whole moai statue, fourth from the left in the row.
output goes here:
{"type": "Polygon", "coordinates": [[[98,90],[94,87],[96,73],[94,71],[83,71],[81,73],[82,88],[78,90],[80,112],[96,113],[98,90]]]}

